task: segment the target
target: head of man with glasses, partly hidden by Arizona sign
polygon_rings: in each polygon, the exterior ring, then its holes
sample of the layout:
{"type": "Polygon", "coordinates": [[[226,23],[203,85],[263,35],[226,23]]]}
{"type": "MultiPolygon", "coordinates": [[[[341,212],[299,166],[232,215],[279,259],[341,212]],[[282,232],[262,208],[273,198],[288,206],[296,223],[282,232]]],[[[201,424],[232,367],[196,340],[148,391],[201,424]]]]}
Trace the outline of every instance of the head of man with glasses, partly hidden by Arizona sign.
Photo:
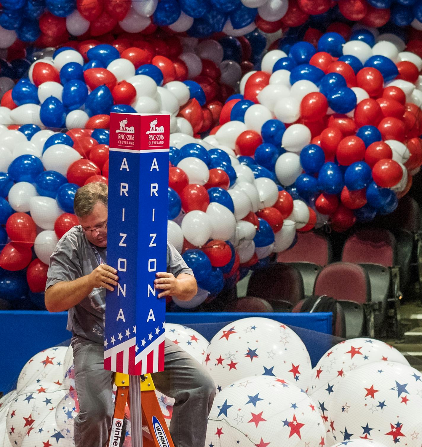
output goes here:
{"type": "Polygon", "coordinates": [[[108,186],[92,182],[76,191],[73,208],[86,238],[98,247],[107,246],[108,186]]]}

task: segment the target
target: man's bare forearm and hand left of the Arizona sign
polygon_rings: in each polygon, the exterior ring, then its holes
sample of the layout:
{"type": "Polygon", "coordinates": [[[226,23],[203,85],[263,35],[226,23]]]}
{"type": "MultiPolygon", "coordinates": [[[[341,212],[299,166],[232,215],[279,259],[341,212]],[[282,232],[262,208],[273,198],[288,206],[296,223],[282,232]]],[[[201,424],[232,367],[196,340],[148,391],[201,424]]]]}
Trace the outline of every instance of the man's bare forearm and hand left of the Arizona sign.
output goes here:
{"type": "Polygon", "coordinates": [[[105,287],[114,291],[117,286],[117,270],[101,264],[90,274],[73,281],[60,281],[48,287],[44,295],[46,309],[49,312],[63,312],[79,304],[88,296],[93,288],[105,287]]]}

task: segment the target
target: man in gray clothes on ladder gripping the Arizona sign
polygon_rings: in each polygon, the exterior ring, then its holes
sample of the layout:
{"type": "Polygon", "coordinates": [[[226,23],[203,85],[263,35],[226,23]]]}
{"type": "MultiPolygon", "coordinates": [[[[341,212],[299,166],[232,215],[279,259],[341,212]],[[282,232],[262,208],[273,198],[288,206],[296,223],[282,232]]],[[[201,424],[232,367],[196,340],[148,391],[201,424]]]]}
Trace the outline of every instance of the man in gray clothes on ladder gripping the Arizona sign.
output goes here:
{"type": "MultiPolygon", "coordinates": [[[[74,209],[80,225],[71,228],[50,257],[45,303],[50,312],[69,310],[75,386],[80,412],[75,418],[76,447],[104,447],[114,405],[114,373],[104,370],[105,289],[117,286],[117,270],[107,260],[107,196],[104,183],[77,190],[74,209]]],[[[197,286],[192,270],[167,243],[167,270],[154,281],[166,295],[190,300],[197,286]]],[[[203,447],[215,385],[189,354],[165,340],[165,371],[154,374],[156,388],[176,400],[170,433],[176,447],[203,447]]]]}

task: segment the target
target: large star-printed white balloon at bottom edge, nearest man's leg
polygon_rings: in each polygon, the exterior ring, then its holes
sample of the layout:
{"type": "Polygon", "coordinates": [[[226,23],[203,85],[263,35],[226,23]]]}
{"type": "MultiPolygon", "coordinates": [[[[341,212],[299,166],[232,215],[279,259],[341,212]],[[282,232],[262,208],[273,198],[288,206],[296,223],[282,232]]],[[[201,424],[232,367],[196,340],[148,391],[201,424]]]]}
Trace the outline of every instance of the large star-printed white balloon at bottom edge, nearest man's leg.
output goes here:
{"type": "Polygon", "coordinates": [[[216,397],[207,447],[322,447],[325,430],[311,398],[272,376],[237,380],[216,397]]]}

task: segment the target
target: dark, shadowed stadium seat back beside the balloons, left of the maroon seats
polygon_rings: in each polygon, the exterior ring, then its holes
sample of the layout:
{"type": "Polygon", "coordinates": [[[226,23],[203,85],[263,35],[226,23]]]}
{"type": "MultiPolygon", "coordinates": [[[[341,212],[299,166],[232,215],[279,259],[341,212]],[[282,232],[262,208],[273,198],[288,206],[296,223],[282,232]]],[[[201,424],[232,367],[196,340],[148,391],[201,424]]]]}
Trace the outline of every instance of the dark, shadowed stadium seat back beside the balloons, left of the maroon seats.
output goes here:
{"type": "Polygon", "coordinates": [[[248,296],[266,299],[275,312],[290,311],[304,298],[304,285],[298,269],[281,262],[254,271],[249,279],[248,296]]]}

